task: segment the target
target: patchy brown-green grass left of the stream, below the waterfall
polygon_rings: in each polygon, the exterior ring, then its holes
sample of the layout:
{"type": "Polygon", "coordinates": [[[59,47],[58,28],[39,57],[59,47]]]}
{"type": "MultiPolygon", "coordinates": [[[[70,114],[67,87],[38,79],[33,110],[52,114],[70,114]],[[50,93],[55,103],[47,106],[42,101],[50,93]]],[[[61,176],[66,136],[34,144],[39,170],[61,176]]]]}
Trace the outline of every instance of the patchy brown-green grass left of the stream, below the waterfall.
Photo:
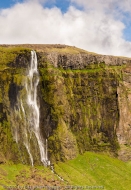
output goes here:
{"type": "Polygon", "coordinates": [[[49,168],[44,166],[0,165],[0,190],[9,188],[9,186],[19,186],[24,189],[27,186],[64,186],[65,184],[66,182],[60,180],[49,168]]]}

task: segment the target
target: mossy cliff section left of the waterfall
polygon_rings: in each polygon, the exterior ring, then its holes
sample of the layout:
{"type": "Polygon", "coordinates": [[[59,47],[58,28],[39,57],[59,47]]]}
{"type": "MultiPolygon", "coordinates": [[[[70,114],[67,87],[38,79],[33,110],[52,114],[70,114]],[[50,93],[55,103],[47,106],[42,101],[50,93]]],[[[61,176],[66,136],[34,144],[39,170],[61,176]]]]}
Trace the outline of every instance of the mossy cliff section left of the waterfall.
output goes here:
{"type": "Polygon", "coordinates": [[[30,60],[30,51],[22,47],[0,47],[0,161],[19,162],[21,153],[16,144],[12,125],[15,127],[13,111],[17,95],[30,60]],[[13,123],[14,122],[14,123],[13,123]]]}

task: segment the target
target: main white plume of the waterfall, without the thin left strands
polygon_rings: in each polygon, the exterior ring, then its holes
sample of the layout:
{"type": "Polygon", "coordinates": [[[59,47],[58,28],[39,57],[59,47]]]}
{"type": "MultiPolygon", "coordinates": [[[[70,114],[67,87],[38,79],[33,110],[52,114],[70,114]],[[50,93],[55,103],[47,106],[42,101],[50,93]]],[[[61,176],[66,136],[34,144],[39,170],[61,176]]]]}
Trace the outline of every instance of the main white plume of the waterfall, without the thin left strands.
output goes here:
{"type": "Polygon", "coordinates": [[[41,162],[44,165],[49,165],[47,155],[47,140],[44,143],[44,139],[40,133],[40,111],[37,99],[37,87],[39,83],[39,73],[37,69],[37,56],[35,51],[31,51],[31,64],[28,70],[27,83],[26,83],[26,91],[27,91],[27,105],[29,107],[29,115],[27,116],[27,120],[29,122],[29,130],[34,132],[41,156],[41,162]]]}

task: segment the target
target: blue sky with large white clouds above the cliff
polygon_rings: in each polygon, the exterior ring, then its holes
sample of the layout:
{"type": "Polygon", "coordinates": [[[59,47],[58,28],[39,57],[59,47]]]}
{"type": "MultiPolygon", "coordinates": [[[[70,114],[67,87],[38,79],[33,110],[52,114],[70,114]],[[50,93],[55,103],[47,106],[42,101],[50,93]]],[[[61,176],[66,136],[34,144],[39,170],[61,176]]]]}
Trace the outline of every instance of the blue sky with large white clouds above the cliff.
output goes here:
{"type": "Polygon", "coordinates": [[[0,1],[0,44],[27,43],[131,57],[131,0],[0,1]]]}

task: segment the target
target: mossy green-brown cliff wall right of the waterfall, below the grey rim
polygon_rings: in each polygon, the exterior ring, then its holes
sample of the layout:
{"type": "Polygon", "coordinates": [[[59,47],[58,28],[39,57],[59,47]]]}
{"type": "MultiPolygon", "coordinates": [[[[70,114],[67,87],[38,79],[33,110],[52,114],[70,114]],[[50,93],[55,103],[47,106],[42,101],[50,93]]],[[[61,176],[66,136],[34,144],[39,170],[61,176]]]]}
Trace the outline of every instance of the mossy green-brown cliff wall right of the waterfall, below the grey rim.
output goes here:
{"type": "Polygon", "coordinates": [[[117,85],[122,66],[115,69],[101,64],[65,70],[49,63],[40,68],[42,98],[55,126],[45,129],[50,133],[52,161],[71,159],[87,150],[117,153],[117,85]]]}

